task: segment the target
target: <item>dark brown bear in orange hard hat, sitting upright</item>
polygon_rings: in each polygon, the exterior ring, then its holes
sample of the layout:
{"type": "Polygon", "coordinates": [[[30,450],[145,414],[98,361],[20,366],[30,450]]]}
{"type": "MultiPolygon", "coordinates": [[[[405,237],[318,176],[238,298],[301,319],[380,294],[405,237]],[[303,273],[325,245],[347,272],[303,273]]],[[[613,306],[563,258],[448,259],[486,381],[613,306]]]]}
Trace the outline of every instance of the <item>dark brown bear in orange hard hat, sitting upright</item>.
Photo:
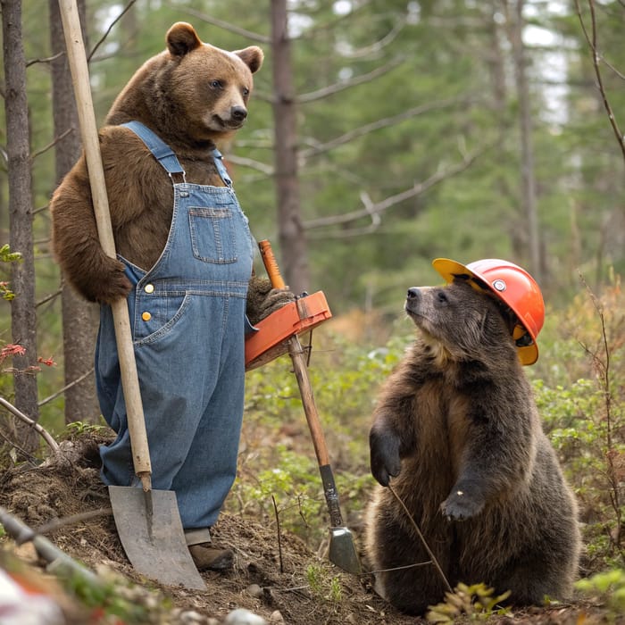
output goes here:
{"type": "Polygon", "coordinates": [[[375,588],[411,613],[446,591],[390,482],[452,587],[483,582],[510,590],[514,604],[570,596],[577,506],[521,367],[537,358],[540,291],[510,262],[434,266],[450,284],[408,290],[405,311],[420,332],[373,415],[381,486],[365,541],[375,588]]]}

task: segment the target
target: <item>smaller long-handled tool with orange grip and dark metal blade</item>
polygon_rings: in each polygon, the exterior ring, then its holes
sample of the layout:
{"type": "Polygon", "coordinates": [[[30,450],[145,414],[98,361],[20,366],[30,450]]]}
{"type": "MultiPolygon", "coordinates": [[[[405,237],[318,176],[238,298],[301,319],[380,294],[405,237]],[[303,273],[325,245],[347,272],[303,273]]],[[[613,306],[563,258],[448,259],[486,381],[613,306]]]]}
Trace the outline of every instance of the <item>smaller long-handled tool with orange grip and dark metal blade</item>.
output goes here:
{"type": "MultiPolygon", "coordinates": [[[[271,250],[271,244],[267,240],[260,241],[258,244],[262,262],[264,263],[267,275],[271,279],[271,286],[274,288],[285,288],[286,285],[280,275],[278,262],[271,250]]],[[[296,300],[296,304],[297,304],[296,300]]],[[[304,315],[302,315],[304,316],[304,315]]],[[[346,528],[341,516],[341,509],[338,504],[337,487],[334,483],[334,475],[329,463],[328,448],[326,440],[321,429],[321,421],[319,421],[319,413],[312,396],[312,386],[308,377],[308,366],[304,348],[299,342],[299,337],[294,334],[287,339],[288,354],[293,362],[293,371],[295,371],[297,386],[302,396],[302,404],[306,421],[308,421],[308,429],[310,429],[312,437],[312,445],[314,446],[317,462],[319,463],[319,471],[321,473],[321,481],[323,483],[323,495],[328,504],[329,521],[330,521],[330,537],[329,537],[329,561],[348,573],[358,574],[362,571],[360,560],[354,546],[354,538],[352,532],[346,528]]]]}

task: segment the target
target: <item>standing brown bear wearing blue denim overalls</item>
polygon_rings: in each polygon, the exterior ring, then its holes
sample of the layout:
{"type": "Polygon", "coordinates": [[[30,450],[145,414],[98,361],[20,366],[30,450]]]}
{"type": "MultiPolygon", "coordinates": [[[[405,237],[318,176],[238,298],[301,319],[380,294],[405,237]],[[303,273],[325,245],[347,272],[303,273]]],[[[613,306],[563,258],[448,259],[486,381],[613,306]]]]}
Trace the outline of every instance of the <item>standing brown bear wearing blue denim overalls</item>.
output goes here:
{"type": "Polygon", "coordinates": [[[100,149],[117,258],[98,240],[84,154],[54,192],[54,251],[65,276],[101,305],[96,386],[117,433],[102,477],[132,468],[111,304],[126,298],[155,489],[174,490],[200,568],[227,568],[209,529],[236,475],[245,331],[293,300],[252,277],[254,239],[217,144],[246,121],[262,50],[205,44],[178,22],[167,48],[112,104],[100,149]],[[252,305],[250,305],[252,304],[252,305]]]}

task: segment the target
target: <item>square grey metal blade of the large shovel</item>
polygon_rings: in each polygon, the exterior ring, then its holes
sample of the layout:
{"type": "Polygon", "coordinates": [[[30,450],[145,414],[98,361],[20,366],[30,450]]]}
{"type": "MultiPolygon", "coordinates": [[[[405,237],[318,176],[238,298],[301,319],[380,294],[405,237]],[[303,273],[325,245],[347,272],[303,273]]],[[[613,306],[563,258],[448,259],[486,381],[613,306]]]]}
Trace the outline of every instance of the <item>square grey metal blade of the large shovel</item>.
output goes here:
{"type": "Polygon", "coordinates": [[[125,486],[108,490],[121,545],[135,570],[167,586],[205,590],[188,551],[176,494],[125,486]]]}

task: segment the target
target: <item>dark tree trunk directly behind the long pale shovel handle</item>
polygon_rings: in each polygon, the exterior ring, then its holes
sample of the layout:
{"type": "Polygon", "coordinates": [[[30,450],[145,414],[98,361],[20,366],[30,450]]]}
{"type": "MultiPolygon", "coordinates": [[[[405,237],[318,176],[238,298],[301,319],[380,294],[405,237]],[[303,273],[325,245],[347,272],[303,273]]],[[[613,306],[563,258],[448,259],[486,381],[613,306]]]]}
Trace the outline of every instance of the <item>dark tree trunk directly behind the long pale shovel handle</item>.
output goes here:
{"type": "MultiPolygon", "coordinates": [[[[79,0],[80,21],[85,24],[85,2],[79,0]]],[[[52,45],[52,107],[54,118],[56,182],[70,171],[80,155],[80,133],[70,66],[65,53],[65,37],[58,0],[49,0],[50,41],[52,45]],[[68,132],[69,131],[69,132],[68,132]],[[65,134],[64,133],[68,133],[65,134]],[[59,138],[63,137],[63,138],[59,138]]],[[[65,422],[99,419],[93,351],[97,332],[97,306],[90,304],[65,281],[62,290],[63,354],[65,372],[65,422]],[[88,371],[92,371],[88,373],[88,371]],[[76,380],[87,377],[80,382],[76,380]]]]}

